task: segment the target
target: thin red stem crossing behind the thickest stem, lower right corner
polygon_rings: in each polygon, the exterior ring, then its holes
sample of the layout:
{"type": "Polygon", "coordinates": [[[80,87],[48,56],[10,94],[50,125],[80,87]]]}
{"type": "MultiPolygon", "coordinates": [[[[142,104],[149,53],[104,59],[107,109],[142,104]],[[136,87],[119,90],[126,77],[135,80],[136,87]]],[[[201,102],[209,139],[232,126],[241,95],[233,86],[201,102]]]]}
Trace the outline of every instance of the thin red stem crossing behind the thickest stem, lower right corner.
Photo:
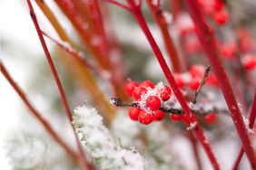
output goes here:
{"type": "MultiPolygon", "coordinates": [[[[252,102],[251,113],[250,113],[250,116],[249,116],[249,128],[251,128],[251,129],[252,129],[253,124],[255,122],[255,118],[256,118],[256,90],[254,92],[254,99],[253,99],[253,102],[252,102]]],[[[241,162],[241,157],[243,156],[243,153],[244,153],[244,149],[243,149],[242,146],[240,146],[239,154],[238,154],[238,156],[235,160],[235,163],[232,167],[233,170],[238,169],[238,165],[241,162]]]]}

